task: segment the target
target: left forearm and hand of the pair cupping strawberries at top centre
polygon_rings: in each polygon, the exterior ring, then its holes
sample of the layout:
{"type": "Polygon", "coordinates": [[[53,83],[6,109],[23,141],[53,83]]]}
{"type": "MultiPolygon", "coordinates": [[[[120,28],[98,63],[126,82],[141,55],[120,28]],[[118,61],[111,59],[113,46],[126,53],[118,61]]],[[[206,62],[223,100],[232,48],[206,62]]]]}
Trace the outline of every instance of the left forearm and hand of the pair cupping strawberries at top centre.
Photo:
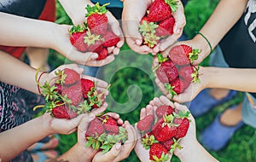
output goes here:
{"type": "Polygon", "coordinates": [[[122,26],[125,33],[126,43],[132,50],[139,54],[148,54],[153,52],[146,45],[142,45],[143,38],[138,32],[138,25],[143,19],[151,1],[129,0],[124,2],[124,10],[122,14],[122,26]]]}

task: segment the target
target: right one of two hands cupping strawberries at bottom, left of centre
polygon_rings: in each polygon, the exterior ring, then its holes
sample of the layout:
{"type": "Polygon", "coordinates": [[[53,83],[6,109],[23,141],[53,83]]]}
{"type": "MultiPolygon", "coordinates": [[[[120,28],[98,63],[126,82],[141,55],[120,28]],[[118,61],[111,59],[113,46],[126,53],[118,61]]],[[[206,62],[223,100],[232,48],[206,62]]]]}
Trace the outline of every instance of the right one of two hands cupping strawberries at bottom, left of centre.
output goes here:
{"type": "Polygon", "coordinates": [[[124,127],[128,133],[128,140],[123,145],[116,143],[108,153],[103,154],[102,151],[96,153],[92,161],[121,161],[129,156],[137,142],[137,136],[134,128],[128,121],[125,121],[124,127]]]}

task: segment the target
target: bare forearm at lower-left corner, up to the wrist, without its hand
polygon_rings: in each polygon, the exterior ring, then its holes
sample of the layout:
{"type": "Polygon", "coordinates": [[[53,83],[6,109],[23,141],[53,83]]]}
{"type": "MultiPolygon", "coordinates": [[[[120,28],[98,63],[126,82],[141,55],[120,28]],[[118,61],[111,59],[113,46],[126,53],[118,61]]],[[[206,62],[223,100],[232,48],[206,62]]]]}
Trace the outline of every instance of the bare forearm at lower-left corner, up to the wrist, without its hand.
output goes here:
{"type": "Polygon", "coordinates": [[[0,133],[0,158],[2,161],[14,159],[33,143],[49,136],[50,131],[44,116],[32,119],[25,124],[0,133]]]}

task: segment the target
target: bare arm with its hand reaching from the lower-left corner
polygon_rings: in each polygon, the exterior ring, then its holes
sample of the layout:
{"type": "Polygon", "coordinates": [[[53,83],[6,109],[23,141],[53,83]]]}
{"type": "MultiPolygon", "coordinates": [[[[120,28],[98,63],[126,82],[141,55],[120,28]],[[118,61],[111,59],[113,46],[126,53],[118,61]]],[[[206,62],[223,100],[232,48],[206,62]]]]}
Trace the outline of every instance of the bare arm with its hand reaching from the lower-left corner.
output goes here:
{"type": "Polygon", "coordinates": [[[45,113],[25,124],[0,133],[0,159],[9,161],[30,147],[33,143],[42,140],[53,133],[70,134],[76,130],[83,118],[79,115],[75,119],[55,119],[45,113]]]}

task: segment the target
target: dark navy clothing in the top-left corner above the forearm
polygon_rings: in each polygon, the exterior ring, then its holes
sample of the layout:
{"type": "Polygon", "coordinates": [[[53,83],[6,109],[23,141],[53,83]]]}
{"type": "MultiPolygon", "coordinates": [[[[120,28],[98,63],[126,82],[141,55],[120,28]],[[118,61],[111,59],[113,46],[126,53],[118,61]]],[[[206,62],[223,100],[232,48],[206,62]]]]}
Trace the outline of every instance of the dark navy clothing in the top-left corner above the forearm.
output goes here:
{"type": "Polygon", "coordinates": [[[0,0],[0,12],[37,19],[46,0],[0,0]]]}

